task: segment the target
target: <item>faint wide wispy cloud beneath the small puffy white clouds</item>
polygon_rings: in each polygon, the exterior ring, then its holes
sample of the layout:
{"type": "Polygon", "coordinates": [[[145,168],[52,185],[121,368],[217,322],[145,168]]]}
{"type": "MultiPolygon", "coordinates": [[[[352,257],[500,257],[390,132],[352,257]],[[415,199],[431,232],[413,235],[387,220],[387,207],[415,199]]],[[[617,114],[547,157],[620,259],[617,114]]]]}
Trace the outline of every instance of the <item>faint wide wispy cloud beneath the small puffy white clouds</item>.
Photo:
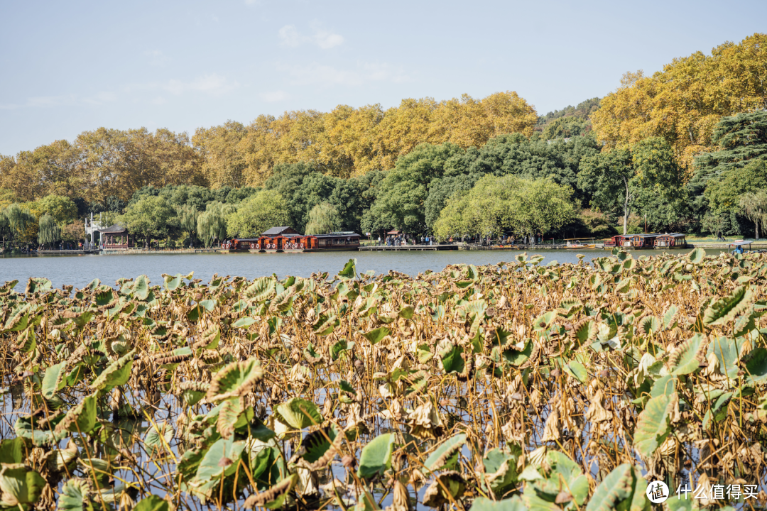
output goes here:
{"type": "Polygon", "coordinates": [[[401,83],[410,80],[403,70],[390,64],[361,62],[356,69],[337,69],[336,67],[313,63],[308,66],[281,66],[293,79],[294,84],[345,85],[359,87],[371,82],[401,83]]]}

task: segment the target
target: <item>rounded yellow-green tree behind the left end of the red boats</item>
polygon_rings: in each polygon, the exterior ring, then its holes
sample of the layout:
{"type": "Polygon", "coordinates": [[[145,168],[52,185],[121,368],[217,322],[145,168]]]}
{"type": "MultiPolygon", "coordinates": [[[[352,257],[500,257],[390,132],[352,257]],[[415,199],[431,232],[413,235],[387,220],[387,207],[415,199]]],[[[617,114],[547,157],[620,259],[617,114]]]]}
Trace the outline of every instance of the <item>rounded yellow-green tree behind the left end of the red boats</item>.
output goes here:
{"type": "Polygon", "coordinates": [[[264,190],[242,201],[237,211],[226,218],[226,232],[231,237],[256,237],[268,228],[289,222],[290,213],[282,195],[264,190]]]}

